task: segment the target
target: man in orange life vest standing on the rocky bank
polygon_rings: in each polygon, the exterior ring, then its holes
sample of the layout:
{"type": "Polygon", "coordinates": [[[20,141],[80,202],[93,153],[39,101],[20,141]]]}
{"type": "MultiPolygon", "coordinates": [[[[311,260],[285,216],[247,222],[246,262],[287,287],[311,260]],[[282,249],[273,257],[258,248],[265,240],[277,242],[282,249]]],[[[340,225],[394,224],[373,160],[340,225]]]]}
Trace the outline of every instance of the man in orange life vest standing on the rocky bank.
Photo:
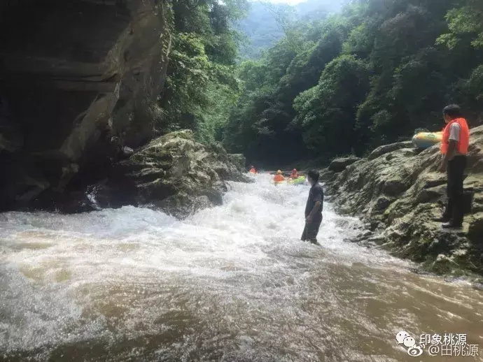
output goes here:
{"type": "Polygon", "coordinates": [[[470,131],[461,108],[456,104],[444,108],[443,118],[446,126],[441,141],[442,163],[438,171],[447,173],[448,203],[442,217],[435,221],[443,222],[444,229],[460,229],[463,226],[463,174],[466,168],[470,131]]]}

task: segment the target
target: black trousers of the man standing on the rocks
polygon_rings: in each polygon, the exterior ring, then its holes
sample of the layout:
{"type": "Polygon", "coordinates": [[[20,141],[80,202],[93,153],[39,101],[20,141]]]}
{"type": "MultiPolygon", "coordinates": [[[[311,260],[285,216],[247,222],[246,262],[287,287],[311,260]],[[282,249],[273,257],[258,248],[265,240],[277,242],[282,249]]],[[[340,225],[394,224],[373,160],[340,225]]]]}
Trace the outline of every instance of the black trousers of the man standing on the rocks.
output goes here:
{"type": "Polygon", "coordinates": [[[444,210],[443,217],[450,219],[452,224],[461,226],[463,224],[463,180],[466,168],[466,156],[455,156],[448,161],[447,166],[447,195],[448,203],[444,210]]]}

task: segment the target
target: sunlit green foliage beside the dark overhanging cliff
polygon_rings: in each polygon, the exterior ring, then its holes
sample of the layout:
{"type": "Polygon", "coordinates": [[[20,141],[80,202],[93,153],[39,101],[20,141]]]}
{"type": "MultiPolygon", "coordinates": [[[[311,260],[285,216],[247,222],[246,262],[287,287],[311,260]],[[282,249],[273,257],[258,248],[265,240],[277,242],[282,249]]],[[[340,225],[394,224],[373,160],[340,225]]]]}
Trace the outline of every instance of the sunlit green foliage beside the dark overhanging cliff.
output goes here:
{"type": "Polygon", "coordinates": [[[238,35],[231,22],[246,13],[245,0],[178,0],[169,68],[158,106],[159,131],[193,129],[204,142],[218,135],[239,93],[235,78],[238,35]]]}

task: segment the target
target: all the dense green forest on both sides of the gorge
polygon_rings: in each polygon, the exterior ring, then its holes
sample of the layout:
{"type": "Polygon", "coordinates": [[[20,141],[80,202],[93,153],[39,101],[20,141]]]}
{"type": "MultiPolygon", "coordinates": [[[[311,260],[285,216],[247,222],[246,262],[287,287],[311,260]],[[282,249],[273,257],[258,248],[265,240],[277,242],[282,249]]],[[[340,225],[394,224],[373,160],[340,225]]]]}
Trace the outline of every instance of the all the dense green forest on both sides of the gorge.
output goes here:
{"type": "Polygon", "coordinates": [[[284,22],[285,36],[237,64],[244,1],[176,3],[158,117],[248,160],[365,154],[442,128],[446,103],[483,110],[483,1],[356,0],[337,15],[284,22]]]}

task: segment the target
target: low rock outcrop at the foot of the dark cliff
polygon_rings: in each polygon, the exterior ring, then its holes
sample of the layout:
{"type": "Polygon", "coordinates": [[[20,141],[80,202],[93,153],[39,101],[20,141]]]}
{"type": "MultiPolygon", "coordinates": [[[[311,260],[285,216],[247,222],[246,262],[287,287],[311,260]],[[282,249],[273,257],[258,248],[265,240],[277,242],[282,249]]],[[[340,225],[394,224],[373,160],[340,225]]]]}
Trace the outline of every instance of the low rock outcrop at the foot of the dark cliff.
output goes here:
{"type": "Polygon", "coordinates": [[[148,205],[176,217],[222,203],[225,181],[248,182],[217,144],[202,145],[192,131],[176,131],[118,162],[88,191],[90,206],[148,205]]]}

